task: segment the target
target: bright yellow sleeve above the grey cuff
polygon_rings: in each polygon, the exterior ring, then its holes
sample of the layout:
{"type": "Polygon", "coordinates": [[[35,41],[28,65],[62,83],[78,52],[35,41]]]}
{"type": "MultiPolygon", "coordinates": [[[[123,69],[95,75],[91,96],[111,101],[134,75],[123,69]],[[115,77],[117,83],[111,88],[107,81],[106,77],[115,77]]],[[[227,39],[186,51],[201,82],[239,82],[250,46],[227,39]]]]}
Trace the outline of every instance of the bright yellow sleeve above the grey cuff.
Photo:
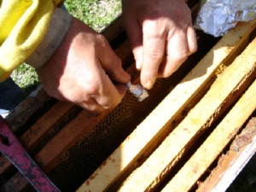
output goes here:
{"type": "Polygon", "coordinates": [[[43,40],[58,0],[0,0],[0,81],[43,40]]]}

